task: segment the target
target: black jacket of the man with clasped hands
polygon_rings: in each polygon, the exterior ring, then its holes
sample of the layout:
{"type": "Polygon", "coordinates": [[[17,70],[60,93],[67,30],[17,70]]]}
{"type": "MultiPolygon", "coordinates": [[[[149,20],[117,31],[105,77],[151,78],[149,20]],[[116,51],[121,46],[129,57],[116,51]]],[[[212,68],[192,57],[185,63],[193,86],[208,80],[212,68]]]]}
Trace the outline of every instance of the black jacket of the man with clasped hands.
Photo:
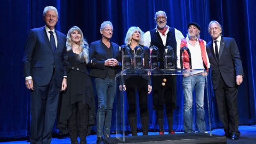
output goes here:
{"type": "MultiPolygon", "coordinates": [[[[92,42],[89,49],[89,59],[97,61],[94,65],[90,63],[90,75],[93,77],[105,79],[107,76],[107,69],[105,68],[105,60],[107,60],[106,53],[103,50],[103,42],[101,40],[92,42]]],[[[119,66],[115,67],[115,72],[118,72],[118,68],[122,66],[121,55],[119,52],[119,46],[116,43],[111,42],[113,48],[113,58],[117,59],[119,66]]]]}

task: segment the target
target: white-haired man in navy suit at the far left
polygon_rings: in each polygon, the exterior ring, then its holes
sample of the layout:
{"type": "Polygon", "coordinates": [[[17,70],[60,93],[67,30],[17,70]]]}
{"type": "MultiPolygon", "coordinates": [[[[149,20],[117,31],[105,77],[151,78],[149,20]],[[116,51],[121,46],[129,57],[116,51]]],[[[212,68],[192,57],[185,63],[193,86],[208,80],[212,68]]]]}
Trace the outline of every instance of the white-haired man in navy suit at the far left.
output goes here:
{"type": "Polygon", "coordinates": [[[60,91],[67,87],[66,36],[54,27],[58,11],[46,6],[45,26],[29,31],[23,57],[27,89],[31,92],[30,143],[50,143],[60,91]]]}

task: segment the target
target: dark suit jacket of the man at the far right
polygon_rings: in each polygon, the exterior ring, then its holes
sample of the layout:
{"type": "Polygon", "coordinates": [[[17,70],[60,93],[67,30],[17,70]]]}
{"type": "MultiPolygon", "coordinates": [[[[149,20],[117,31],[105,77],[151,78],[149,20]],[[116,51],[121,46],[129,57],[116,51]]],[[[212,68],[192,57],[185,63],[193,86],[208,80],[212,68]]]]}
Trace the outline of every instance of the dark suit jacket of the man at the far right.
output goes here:
{"type": "Polygon", "coordinates": [[[206,51],[212,68],[213,89],[217,89],[221,76],[227,86],[236,86],[236,76],[244,74],[235,39],[221,37],[219,60],[215,56],[212,43],[213,41],[207,43],[206,51]]]}

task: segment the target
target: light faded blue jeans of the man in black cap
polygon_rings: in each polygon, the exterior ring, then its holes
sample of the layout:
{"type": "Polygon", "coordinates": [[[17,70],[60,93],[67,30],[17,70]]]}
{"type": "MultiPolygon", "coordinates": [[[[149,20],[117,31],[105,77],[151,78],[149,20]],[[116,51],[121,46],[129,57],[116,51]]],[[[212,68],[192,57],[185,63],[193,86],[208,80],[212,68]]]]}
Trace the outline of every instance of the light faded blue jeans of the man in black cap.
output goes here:
{"type": "Polygon", "coordinates": [[[184,132],[193,132],[193,91],[196,92],[196,125],[198,132],[205,132],[204,120],[204,87],[205,76],[195,75],[183,77],[184,106],[183,106],[183,129],[184,132]]]}

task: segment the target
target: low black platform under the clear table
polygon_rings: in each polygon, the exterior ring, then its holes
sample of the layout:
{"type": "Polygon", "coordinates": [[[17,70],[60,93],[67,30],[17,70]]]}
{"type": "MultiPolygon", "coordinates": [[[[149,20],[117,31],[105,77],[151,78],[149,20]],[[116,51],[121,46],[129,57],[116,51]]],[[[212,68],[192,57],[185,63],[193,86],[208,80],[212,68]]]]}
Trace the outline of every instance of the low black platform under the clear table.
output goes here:
{"type": "Polygon", "coordinates": [[[177,133],[164,135],[141,135],[125,137],[125,142],[117,138],[106,138],[105,143],[227,143],[226,137],[220,135],[210,136],[204,133],[177,133]]]}

